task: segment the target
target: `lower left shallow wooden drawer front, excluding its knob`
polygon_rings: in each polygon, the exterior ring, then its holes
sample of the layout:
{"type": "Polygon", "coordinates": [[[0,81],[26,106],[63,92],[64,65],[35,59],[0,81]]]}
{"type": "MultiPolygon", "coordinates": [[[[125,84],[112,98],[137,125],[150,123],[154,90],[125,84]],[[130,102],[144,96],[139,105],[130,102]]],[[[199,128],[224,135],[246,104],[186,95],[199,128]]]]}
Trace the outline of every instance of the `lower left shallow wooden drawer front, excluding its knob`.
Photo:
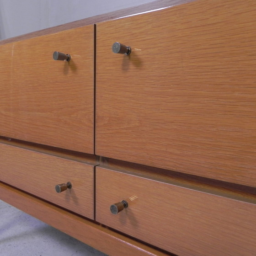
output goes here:
{"type": "Polygon", "coordinates": [[[94,166],[0,144],[0,181],[94,218],[94,166]],[[55,186],[72,187],[57,193],[55,186]]]}

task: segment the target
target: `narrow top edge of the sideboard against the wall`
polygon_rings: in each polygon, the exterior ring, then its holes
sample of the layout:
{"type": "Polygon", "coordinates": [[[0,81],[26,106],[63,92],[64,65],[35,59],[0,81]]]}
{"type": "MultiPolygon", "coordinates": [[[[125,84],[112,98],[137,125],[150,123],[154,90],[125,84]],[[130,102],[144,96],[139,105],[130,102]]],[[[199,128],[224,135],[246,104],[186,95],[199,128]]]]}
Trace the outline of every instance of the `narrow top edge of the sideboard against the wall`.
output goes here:
{"type": "Polygon", "coordinates": [[[42,30],[30,32],[30,33],[16,36],[16,37],[6,38],[3,40],[0,40],[0,45],[6,44],[6,43],[13,43],[16,41],[29,39],[32,37],[43,36],[51,33],[57,33],[63,30],[68,30],[76,27],[92,25],[99,22],[103,22],[103,21],[116,20],[116,19],[124,18],[128,16],[134,16],[134,15],[139,15],[147,12],[158,11],[158,10],[170,8],[176,5],[186,4],[192,1],[195,1],[195,0],[155,0],[153,2],[149,2],[146,4],[141,4],[141,5],[128,7],[118,11],[112,11],[105,14],[96,15],[96,16],[88,17],[78,21],[71,21],[62,25],[45,28],[42,30]]]}

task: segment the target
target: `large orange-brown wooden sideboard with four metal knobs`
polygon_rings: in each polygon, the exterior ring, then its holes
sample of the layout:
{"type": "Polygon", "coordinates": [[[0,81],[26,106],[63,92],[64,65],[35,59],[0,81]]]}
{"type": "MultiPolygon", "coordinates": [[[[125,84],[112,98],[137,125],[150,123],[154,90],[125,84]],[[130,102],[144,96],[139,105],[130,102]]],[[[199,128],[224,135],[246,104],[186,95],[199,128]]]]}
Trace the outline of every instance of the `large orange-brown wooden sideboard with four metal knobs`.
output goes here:
{"type": "Polygon", "coordinates": [[[110,256],[255,255],[255,27],[158,0],[0,41],[0,199],[110,256]]]}

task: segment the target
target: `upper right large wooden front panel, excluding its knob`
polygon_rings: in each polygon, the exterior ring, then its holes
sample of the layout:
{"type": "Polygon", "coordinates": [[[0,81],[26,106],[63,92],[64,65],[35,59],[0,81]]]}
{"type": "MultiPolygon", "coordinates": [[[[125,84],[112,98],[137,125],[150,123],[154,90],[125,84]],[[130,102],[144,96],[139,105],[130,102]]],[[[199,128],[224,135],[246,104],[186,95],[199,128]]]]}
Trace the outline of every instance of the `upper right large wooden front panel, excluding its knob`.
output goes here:
{"type": "Polygon", "coordinates": [[[255,186],[255,16],[199,0],[98,24],[96,154],[255,186]]]}

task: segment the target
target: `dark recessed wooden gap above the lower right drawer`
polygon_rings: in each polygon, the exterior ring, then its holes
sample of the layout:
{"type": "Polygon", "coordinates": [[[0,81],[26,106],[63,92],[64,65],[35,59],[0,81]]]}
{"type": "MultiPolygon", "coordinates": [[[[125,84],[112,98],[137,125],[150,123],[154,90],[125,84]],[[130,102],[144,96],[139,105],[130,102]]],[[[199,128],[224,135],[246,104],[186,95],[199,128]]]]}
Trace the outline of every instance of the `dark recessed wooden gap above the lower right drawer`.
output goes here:
{"type": "Polygon", "coordinates": [[[179,187],[187,187],[221,197],[256,204],[256,187],[248,187],[241,184],[218,181],[110,158],[106,161],[101,160],[100,165],[107,169],[132,172],[134,175],[144,176],[151,180],[164,181],[165,183],[171,183],[179,187]]]}

